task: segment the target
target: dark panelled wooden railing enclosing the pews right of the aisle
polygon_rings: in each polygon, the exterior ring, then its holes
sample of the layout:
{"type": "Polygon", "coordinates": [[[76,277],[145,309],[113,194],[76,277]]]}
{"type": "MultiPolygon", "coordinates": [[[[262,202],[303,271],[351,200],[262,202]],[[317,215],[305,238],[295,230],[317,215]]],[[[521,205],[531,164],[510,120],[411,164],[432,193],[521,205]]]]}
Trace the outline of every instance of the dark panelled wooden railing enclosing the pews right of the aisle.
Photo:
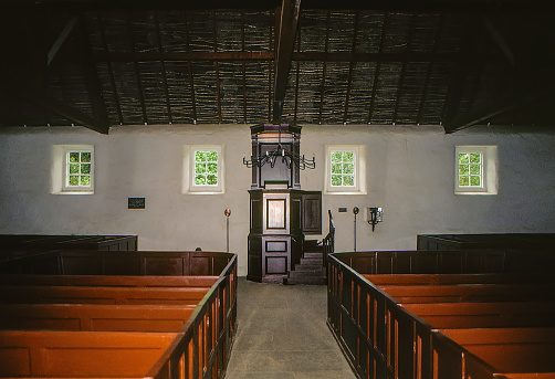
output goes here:
{"type": "MultiPolygon", "coordinates": [[[[401,302],[391,297],[381,286],[378,287],[369,282],[353,267],[360,267],[367,274],[430,272],[444,274],[446,271],[447,273],[451,271],[505,273],[507,269],[513,270],[513,264],[519,262],[517,253],[501,255],[486,253],[482,260],[478,260],[474,254],[468,254],[464,255],[461,252],[358,252],[328,255],[327,324],[358,378],[555,377],[555,373],[549,371],[551,367],[543,371],[535,368],[545,373],[537,373],[537,371],[527,373],[528,376],[501,373],[499,369],[491,366],[492,364],[469,352],[442,334],[442,330],[410,313],[401,305],[401,302]],[[419,256],[418,254],[421,253],[423,254],[419,256]],[[490,261],[492,257],[495,259],[490,261]],[[503,260],[499,261],[500,257],[503,260]],[[460,266],[455,269],[453,262],[459,262],[460,266]]],[[[553,259],[549,254],[531,254],[530,256],[543,256],[544,262],[553,259]]],[[[474,276],[479,275],[482,274],[474,276]]],[[[491,280],[488,274],[485,276],[491,280]]],[[[553,284],[548,288],[553,288],[553,284]]],[[[551,289],[544,292],[544,294],[548,293],[551,289]]],[[[549,309],[553,313],[554,296],[546,297],[549,297],[546,301],[551,302],[549,309]]],[[[553,324],[547,326],[553,329],[553,324]]],[[[546,345],[547,354],[553,350],[553,341],[551,343],[552,345],[546,345]]]]}

